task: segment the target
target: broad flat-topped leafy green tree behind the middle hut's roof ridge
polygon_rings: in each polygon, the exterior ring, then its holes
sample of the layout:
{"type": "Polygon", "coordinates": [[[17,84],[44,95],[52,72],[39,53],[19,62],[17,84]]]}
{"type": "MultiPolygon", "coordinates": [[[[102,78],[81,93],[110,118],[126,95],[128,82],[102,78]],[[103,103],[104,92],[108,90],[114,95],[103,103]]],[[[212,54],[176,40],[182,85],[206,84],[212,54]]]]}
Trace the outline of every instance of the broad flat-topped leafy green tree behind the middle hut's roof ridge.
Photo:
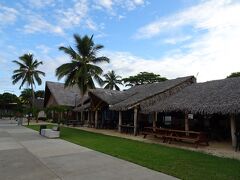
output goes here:
{"type": "Polygon", "coordinates": [[[136,86],[141,84],[150,84],[155,82],[166,81],[167,78],[161,77],[159,74],[140,72],[135,76],[129,76],[128,78],[122,79],[125,86],[136,86]]]}

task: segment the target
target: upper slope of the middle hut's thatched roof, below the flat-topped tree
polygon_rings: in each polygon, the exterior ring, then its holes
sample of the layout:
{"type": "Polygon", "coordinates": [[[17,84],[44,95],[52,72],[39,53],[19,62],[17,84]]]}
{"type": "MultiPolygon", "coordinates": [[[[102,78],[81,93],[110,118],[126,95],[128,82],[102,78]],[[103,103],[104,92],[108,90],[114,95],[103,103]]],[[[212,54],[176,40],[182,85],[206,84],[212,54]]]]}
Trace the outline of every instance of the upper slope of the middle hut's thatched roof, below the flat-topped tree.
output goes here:
{"type": "Polygon", "coordinates": [[[158,94],[166,92],[171,88],[174,88],[186,81],[192,81],[193,83],[195,82],[195,78],[193,76],[187,76],[158,83],[135,86],[127,91],[124,91],[123,94],[121,94],[124,100],[114,104],[110,107],[110,109],[117,111],[124,111],[130,109],[133,106],[136,106],[139,103],[158,94]],[[127,98],[124,98],[124,96],[127,96],[127,98]]]}

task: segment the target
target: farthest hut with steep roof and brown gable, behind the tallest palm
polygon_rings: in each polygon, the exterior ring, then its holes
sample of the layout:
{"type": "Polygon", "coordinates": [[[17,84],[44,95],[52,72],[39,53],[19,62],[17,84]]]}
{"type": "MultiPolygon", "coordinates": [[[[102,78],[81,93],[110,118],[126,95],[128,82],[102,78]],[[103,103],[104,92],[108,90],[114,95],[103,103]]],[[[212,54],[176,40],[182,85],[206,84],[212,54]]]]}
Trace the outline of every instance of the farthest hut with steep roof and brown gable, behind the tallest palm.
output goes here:
{"type": "MultiPolygon", "coordinates": [[[[63,83],[47,81],[45,85],[44,107],[68,107],[73,109],[80,103],[80,90],[77,86],[64,87],[63,83]]],[[[52,117],[54,113],[52,112],[52,117]]],[[[62,116],[62,114],[61,114],[62,116]]],[[[76,119],[73,111],[68,112],[67,118],[76,119]]],[[[61,117],[62,119],[62,117],[61,117]]]]}

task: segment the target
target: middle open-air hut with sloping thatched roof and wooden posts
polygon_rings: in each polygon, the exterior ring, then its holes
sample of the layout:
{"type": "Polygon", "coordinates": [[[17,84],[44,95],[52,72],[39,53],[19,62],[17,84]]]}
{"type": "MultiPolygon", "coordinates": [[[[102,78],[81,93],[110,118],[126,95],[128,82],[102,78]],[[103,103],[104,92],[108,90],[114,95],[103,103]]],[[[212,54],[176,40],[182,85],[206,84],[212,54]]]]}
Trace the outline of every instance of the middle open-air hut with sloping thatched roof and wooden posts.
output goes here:
{"type": "Polygon", "coordinates": [[[139,85],[124,91],[121,96],[127,97],[110,106],[110,110],[119,112],[119,131],[121,132],[121,127],[123,127],[124,113],[127,112],[128,122],[129,119],[131,119],[130,122],[133,122],[130,127],[133,127],[134,135],[136,135],[138,129],[144,126],[144,122],[148,118],[148,116],[139,113],[142,108],[162,101],[195,82],[195,77],[187,76],[158,83],[139,85]],[[132,114],[132,116],[129,116],[129,114],[132,114]]]}

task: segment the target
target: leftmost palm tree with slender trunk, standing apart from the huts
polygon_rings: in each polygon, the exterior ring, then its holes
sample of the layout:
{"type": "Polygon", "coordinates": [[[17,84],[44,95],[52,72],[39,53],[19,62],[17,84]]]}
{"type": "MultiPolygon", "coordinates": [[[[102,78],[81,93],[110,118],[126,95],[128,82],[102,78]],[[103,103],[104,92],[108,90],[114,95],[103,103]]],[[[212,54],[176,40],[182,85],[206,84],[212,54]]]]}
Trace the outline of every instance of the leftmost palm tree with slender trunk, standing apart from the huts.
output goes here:
{"type": "MultiPolygon", "coordinates": [[[[38,85],[42,84],[40,75],[45,76],[45,73],[39,71],[37,68],[39,65],[43,64],[42,61],[38,61],[33,58],[33,54],[24,54],[19,57],[19,61],[13,61],[13,63],[19,66],[18,69],[13,71],[12,83],[16,84],[21,80],[19,89],[23,87],[24,84],[27,84],[28,87],[32,90],[32,102],[31,106],[34,106],[34,89],[35,82],[38,85]]],[[[28,122],[29,124],[29,122],[28,122]]]]}

